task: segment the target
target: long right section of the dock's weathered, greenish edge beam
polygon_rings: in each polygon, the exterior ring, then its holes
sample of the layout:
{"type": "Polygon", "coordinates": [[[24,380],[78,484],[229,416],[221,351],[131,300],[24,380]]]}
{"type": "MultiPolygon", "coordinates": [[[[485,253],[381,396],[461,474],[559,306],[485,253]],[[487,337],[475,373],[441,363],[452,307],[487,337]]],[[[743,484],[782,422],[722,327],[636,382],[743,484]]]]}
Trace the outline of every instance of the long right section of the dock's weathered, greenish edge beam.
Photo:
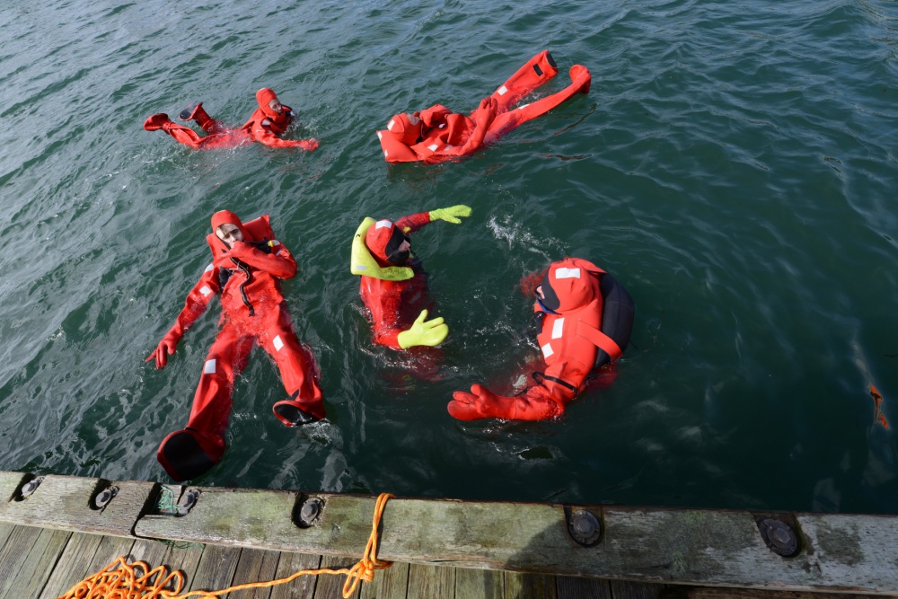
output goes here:
{"type": "MultiPolygon", "coordinates": [[[[198,505],[188,515],[145,516],[136,524],[136,533],[357,556],[374,513],[374,498],[321,495],[321,516],[311,527],[300,528],[291,517],[297,493],[201,490],[198,505]]],[[[810,551],[784,559],[768,549],[747,512],[591,509],[605,530],[603,542],[585,548],[568,534],[561,506],[392,499],[383,514],[378,557],[708,586],[878,593],[898,588],[898,568],[881,566],[891,563],[898,518],[798,515],[810,551]]]]}

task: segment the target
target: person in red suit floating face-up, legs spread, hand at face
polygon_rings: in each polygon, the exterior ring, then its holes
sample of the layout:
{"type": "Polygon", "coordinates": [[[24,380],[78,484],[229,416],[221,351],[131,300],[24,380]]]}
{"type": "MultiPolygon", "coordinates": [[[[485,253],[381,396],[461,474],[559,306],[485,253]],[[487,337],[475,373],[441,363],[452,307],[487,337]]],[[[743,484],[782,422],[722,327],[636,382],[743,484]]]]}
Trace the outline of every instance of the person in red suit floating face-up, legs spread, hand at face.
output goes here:
{"type": "Polygon", "coordinates": [[[275,239],[269,216],[245,225],[233,212],[212,216],[207,236],[213,261],[187,296],[178,319],[146,361],[162,368],[184,331],[219,295],[222,314],[215,342],[200,375],[187,427],[166,436],[157,459],[174,480],[188,480],[212,468],[225,453],[225,428],[231,414],[234,379],[250,357],[253,345],[271,356],[288,398],[274,405],[287,427],[325,417],[314,357],[293,330],[278,280],[294,277],[296,262],[275,239]]]}

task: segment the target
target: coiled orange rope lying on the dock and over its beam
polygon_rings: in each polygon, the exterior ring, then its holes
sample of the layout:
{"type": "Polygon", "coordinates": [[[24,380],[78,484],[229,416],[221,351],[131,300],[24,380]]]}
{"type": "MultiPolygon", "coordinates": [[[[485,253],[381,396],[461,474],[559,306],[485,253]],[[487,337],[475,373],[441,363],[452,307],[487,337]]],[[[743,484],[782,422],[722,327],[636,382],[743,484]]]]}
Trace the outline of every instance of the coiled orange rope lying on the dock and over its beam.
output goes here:
{"type": "Polygon", "coordinates": [[[377,528],[381,523],[383,508],[387,501],[395,497],[390,493],[381,493],[374,504],[374,522],[371,526],[371,535],[362,559],[352,568],[321,568],[317,570],[299,570],[286,578],[278,578],[269,582],[252,582],[243,585],[229,586],[221,591],[191,591],[186,595],[180,595],[184,587],[184,577],[180,572],[166,573],[164,566],[150,569],[144,561],[136,561],[128,564],[124,557],[115,559],[109,566],[101,569],[92,577],[85,578],[69,589],[66,595],[58,599],[187,599],[187,597],[200,597],[202,599],[219,599],[219,595],[232,593],[250,588],[265,588],[268,586],[286,585],[296,578],[306,575],[317,576],[319,574],[345,574],[346,583],[343,585],[343,597],[348,599],[356,592],[359,580],[371,582],[374,580],[374,571],[390,568],[392,561],[377,559],[377,528]],[[144,572],[137,576],[136,570],[144,572]],[[165,590],[165,586],[173,583],[172,590],[165,590]]]}

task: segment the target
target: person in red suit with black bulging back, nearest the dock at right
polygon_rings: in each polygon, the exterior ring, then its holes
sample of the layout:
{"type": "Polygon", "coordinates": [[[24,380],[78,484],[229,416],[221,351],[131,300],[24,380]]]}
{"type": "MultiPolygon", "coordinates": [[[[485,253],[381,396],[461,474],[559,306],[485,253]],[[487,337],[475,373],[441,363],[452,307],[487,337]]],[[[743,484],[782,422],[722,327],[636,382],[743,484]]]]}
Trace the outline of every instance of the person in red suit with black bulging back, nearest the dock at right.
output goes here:
{"type": "Polygon", "coordinates": [[[533,306],[545,372],[514,397],[480,384],[453,393],[454,418],[544,420],[562,414],[594,369],[621,357],[633,329],[633,300],[620,283],[592,262],[566,258],[550,265],[543,294],[533,306]]]}

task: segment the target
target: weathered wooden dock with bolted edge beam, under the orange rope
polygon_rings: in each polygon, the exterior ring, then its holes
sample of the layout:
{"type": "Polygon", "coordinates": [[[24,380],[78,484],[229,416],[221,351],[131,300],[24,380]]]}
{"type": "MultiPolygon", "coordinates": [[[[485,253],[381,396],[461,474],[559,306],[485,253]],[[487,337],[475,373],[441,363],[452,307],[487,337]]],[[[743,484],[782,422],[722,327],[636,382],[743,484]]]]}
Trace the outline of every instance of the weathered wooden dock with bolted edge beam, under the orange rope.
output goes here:
{"type": "MultiPolygon", "coordinates": [[[[180,570],[185,592],[347,568],[374,514],[370,497],[22,472],[0,472],[0,495],[0,599],[53,599],[119,556],[180,570]]],[[[381,526],[396,563],[355,597],[898,596],[893,516],[395,498],[381,526]]],[[[344,580],[226,596],[340,597],[344,580]]]]}

